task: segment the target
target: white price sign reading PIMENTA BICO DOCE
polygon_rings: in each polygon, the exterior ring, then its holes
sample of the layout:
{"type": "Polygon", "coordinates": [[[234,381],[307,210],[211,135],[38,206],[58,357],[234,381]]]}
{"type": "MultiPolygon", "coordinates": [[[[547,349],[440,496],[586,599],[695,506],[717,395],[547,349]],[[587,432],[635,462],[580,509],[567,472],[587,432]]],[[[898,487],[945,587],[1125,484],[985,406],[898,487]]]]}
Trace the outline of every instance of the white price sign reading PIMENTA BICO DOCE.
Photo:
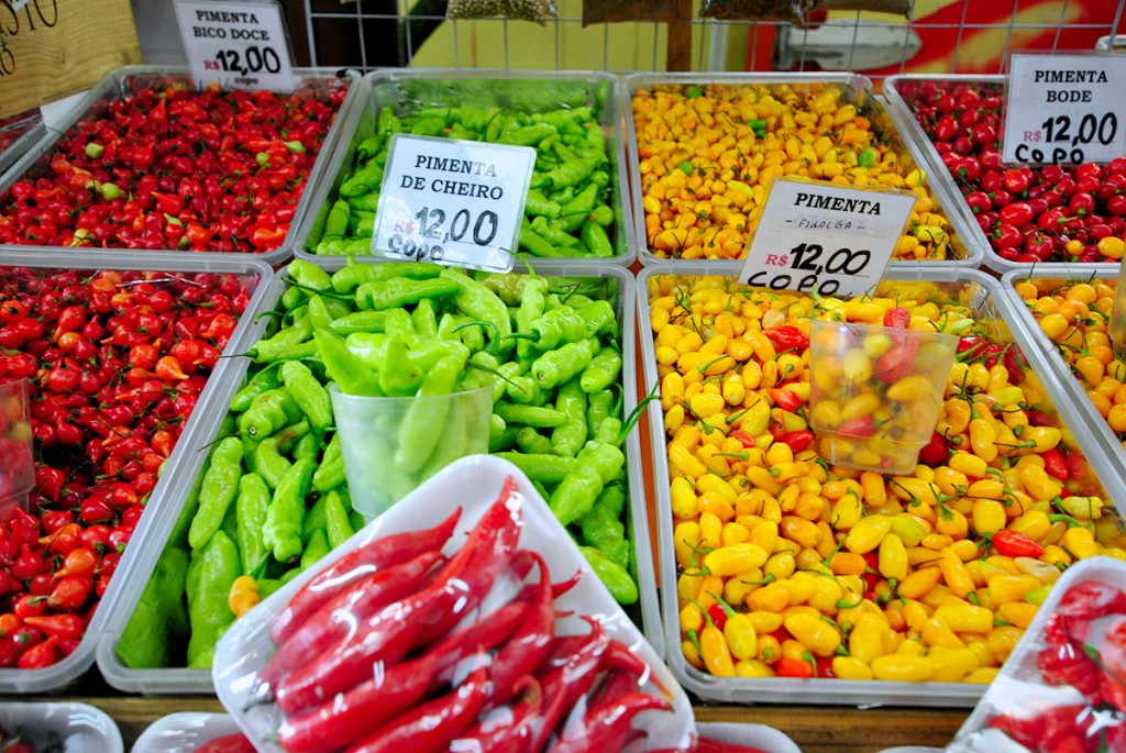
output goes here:
{"type": "Polygon", "coordinates": [[[176,18],[197,87],[293,91],[289,43],[276,0],[176,0],[176,18]]]}

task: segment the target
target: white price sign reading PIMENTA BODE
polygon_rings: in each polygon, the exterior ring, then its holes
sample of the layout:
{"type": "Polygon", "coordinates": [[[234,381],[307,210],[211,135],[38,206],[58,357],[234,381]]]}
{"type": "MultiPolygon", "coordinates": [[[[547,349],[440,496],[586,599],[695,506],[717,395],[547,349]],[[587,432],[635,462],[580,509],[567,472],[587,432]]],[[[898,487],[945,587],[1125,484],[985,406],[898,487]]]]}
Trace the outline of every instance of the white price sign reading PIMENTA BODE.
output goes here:
{"type": "Polygon", "coordinates": [[[1126,56],[1015,54],[1006,162],[1109,162],[1126,154],[1126,56]]]}

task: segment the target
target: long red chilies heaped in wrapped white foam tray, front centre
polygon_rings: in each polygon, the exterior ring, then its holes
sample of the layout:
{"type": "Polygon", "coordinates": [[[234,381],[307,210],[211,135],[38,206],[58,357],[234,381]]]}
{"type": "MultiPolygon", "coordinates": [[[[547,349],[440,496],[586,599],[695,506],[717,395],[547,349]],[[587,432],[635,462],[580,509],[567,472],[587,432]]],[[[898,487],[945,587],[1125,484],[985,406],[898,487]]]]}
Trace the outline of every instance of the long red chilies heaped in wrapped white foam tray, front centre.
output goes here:
{"type": "Polygon", "coordinates": [[[587,635],[556,636],[555,598],[578,575],[552,584],[543,558],[519,548],[521,510],[508,478],[452,557],[441,548],[461,510],[354,549],[302,586],[257,678],[285,716],[282,747],[562,753],[643,736],[634,720],[670,709],[664,689],[645,690],[652,667],[597,619],[583,617],[587,635]],[[475,616],[501,593],[512,598],[475,616]]]}

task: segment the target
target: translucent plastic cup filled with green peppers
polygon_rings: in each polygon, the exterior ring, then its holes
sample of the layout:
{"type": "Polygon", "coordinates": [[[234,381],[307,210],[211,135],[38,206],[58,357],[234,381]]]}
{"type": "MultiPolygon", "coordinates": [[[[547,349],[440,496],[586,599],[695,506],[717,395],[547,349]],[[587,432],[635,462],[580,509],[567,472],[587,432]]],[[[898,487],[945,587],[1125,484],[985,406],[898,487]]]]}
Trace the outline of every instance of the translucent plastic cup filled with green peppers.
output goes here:
{"type": "Polygon", "coordinates": [[[367,521],[467,455],[489,451],[492,385],[425,397],[346,395],[330,385],[352,508],[367,521]]]}

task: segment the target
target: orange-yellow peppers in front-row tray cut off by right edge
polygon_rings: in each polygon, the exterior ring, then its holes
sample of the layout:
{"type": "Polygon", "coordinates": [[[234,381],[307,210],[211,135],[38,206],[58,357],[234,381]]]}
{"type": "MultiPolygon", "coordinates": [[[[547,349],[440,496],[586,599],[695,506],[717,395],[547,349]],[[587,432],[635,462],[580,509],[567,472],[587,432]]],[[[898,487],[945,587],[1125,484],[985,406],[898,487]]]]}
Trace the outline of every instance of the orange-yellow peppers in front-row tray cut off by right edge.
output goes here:
{"type": "Polygon", "coordinates": [[[1126,361],[1107,334],[1115,287],[1115,280],[1027,279],[1015,289],[1126,447],[1126,361]]]}

